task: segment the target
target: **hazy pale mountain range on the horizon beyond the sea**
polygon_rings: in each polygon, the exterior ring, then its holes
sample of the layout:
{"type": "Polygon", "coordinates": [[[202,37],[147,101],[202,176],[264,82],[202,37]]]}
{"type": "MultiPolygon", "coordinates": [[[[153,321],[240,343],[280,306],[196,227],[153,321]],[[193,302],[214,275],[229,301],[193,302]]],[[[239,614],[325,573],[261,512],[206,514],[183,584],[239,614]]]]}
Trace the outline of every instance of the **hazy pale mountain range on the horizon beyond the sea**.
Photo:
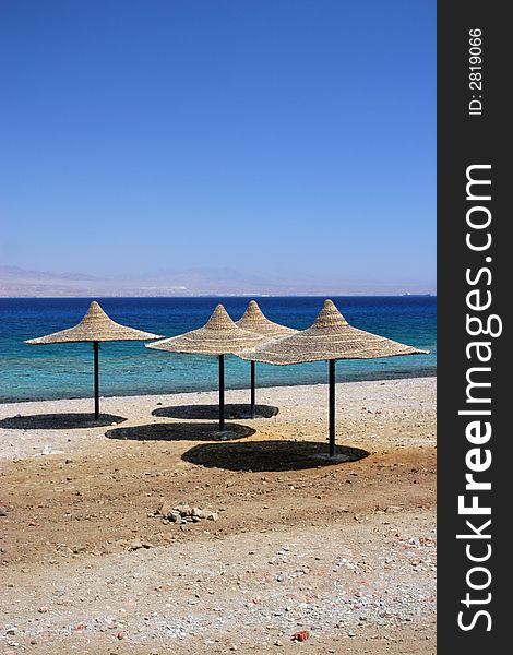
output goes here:
{"type": "MultiPolygon", "coordinates": [[[[273,275],[276,277],[276,275],[273,275]]],[[[26,271],[0,265],[0,297],[106,296],[325,296],[430,294],[432,287],[398,284],[322,284],[307,274],[279,282],[230,267],[160,271],[138,277],[26,271]]]]}

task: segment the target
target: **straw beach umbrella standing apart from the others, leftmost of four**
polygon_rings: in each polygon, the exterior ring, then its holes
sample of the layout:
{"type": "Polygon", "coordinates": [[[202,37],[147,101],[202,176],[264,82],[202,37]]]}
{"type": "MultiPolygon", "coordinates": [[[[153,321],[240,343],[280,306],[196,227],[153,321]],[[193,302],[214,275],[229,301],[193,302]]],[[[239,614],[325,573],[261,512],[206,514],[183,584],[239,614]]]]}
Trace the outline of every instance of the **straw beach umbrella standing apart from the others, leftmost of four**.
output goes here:
{"type": "Polygon", "coordinates": [[[26,344],[31,345],[47,345],[47,344],[71,344],[79,342],[92,342],[94,350],[94,410],[95,420],[99,417],[99,372],[98,372],[98,352],[99,342],[106,341],[150,341],[152,338],[160,338],[160,334],[143,332],[120,325],[110,319],[102,307],[93,300],[90,308],[74,327],[68,327],[60,332],[53,332],[38,338],[31,338],[26,344]]]}

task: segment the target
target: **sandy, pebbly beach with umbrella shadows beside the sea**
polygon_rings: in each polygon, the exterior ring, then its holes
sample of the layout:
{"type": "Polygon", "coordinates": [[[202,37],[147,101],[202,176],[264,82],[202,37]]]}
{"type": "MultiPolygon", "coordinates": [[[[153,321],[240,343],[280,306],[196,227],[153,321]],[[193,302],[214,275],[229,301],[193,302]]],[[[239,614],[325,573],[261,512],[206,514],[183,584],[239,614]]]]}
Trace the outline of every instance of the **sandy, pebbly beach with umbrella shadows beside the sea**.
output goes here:
{"type": "Polygon", "coordinates": [[[433,654],[436,379],[215,403],[0,406],[0,653],[433,654]]]}

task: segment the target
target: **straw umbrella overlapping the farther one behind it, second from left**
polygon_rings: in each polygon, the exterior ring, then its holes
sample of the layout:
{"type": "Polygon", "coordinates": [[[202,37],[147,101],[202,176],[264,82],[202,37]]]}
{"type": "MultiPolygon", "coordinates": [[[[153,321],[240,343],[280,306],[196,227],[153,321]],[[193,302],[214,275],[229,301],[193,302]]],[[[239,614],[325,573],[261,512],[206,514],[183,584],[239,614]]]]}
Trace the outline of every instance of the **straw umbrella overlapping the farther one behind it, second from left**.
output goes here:
{"type": "Polygon", "coordinates": [[[244,348],[251,348],[262,343],[264,338],[254,332],[248,332],[236,325],[223,305],[217,305],[203,327],[153,344],[146,344],[146,348],[190,355],[215,355],[218,357],[219,431],[223,431],[225,428],[225,355],[237,355],[244,348]]]}

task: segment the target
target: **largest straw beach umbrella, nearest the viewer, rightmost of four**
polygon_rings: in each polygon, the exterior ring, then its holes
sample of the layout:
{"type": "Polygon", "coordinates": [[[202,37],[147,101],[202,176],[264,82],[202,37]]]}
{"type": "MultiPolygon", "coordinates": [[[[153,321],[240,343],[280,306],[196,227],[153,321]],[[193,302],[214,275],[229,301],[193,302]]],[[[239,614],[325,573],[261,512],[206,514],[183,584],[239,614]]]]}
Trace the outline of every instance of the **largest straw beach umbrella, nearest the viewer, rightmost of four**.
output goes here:
{"type": "Polygon", "coordinates": [[[322,359],[329,361],[330,457],[333,457],[335,454],[335,361],[418,355],[427,352],[353,327],[335,305],[331,300],[325,300],[313,325],[308,330],[261,344],[239,353],[239,357],[276,365],[322,359]]]}

